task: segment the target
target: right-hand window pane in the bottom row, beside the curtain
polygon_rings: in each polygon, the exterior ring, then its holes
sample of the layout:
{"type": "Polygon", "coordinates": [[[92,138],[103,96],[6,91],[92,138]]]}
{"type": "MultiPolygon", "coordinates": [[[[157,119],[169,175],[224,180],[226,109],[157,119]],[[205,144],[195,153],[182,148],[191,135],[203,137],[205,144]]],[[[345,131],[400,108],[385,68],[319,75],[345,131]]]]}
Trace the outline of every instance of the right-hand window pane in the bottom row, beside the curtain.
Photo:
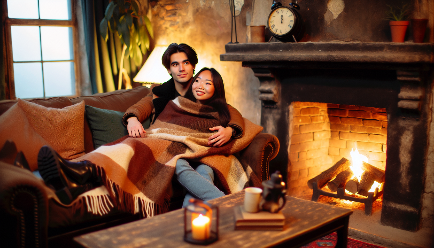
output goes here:
{"type": "Polygon", "coordinates": [[[74,62],[44,63],[45,97],[76,94],[74,62]]]}

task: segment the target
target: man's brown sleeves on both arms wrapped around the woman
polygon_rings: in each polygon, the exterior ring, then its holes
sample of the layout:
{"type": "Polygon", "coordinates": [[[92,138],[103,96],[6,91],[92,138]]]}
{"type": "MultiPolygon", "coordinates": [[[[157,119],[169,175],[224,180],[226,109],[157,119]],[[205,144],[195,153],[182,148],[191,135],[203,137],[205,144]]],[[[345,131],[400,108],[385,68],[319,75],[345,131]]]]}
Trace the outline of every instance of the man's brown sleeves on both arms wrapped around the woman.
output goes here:
{"type": "MultiPolygon", "coordinates": [[[[171,80],[169,80],[166,83],[169,83],[171,80]]],[[[164,84],[166,84],[164,83],[164,84]]],[[[151,85],[151,92],[143,97],[138,103],[134,104],[133,106],[129,107],[127,111],[124,114],[124,117],[122,118],[122,122],[124,122],[124,125],[127,126],[128,122],[127,119],[135,116],[137,117],[139,122],[143,122],[145,119],[148,119],[152,114],[155,113],[154,103],[152,102],[153,99],[158,98],[159,96],[155,95],[152,92],[152,89],[154,87],[161,86],[161,84],[155,83],[151,85]]],[[[229,109],[230,114],[230,121],[227,126],[232,127],[235,129],[236,134],[233,136],[233,139],[238,139],[243,135],[244,132],[244,120],[243,116],[241,116],[240,112],[238,112],[237,109],[227,105],[227,108],[229,109]]]]}

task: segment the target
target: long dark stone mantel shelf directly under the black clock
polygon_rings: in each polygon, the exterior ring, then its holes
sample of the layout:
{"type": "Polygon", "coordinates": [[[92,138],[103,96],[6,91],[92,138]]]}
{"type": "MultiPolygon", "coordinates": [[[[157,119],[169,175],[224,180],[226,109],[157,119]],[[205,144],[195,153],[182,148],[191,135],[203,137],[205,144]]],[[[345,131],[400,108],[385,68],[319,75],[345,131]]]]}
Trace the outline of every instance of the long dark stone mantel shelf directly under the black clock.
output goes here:
{"type": "MultiPolygon", "coordinates": [[[[302,42],[227,44],[221,61],[434,63],[432,43],[302,42]]],[[[250,67],[250,66],[249,66],[250,67]]]]}

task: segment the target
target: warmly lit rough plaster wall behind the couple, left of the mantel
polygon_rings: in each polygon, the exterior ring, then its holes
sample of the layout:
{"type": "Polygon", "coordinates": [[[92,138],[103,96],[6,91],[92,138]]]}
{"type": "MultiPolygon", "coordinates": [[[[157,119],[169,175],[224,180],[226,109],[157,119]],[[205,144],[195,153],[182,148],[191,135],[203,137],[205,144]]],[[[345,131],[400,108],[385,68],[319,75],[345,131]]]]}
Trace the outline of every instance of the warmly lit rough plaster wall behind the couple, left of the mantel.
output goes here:
{"type": "MultiPolygon", "coordinates": [[[[228,0],[151,1],[155,44],[187,43],[198,55],[197,69],[214,67],[223,77],[227,102],[250,121],[260,124],[259,79],[241,62],[220,61],[230,41],[228,0]]],[[[246,12],[252,0],[245,0],[237,17],[238,41],[246,40],[246,12]]],[[[234,39],[235,41],[235,39],[234,39]]]]}

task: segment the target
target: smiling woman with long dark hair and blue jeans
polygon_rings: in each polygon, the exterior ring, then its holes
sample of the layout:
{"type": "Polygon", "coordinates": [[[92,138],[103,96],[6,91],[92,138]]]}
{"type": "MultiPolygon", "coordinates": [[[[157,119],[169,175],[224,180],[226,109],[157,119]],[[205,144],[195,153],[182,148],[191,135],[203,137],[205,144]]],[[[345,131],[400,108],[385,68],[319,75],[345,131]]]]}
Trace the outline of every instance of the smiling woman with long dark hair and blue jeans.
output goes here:
{"type": "MultiPolygon", "coordinates": [[[[194,76],[193,83],[184,97],[193,102],[214,107],[220,116],[220,126],[227,126],[230,119],[229,109],[224,94],[223,79],[216,69],[202,68],[194,76]]],[[[210,130],[213,129],[210,128],[210,130]]],[[[220,139],[215,145],[224,144],[229,139],[220,139]]],[[[201,164],[193,169],[187,160],[179,159],[176,163],[175,173],[178,176],[178,182],[187,190],[183,208],[193,197],[209,201],[224,196],[224,193],[214,186],[214,172],[208,165],[201,164]]]]}

